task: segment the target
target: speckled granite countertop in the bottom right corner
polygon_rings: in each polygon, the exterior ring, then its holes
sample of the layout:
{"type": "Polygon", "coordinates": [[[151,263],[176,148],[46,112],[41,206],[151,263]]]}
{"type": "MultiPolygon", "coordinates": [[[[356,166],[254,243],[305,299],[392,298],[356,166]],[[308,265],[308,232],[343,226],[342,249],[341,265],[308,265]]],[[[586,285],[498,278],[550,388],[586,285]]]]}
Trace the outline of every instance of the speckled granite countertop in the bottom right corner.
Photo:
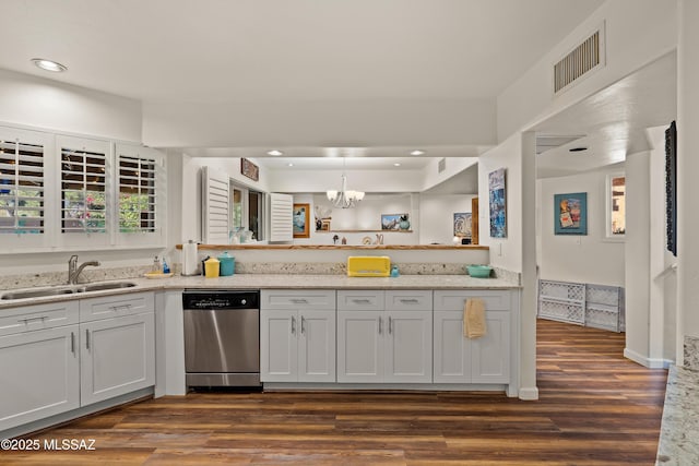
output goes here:
{"type": "Polygon", "coordinates": [[[670,368],[655,464],[699,464],[699,371],[670,368]]]}

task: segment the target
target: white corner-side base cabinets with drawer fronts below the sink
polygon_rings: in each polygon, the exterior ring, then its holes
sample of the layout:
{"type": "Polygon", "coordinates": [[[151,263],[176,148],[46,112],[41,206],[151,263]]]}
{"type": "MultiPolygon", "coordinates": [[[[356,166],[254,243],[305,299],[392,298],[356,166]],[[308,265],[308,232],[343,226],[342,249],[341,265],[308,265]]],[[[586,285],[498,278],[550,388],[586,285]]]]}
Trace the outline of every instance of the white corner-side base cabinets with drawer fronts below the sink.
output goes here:
{"type": "Polygon", "coordinates": [[[152,292],[4,310],[0,431],[154,385],[154,310],[152,292]]]}

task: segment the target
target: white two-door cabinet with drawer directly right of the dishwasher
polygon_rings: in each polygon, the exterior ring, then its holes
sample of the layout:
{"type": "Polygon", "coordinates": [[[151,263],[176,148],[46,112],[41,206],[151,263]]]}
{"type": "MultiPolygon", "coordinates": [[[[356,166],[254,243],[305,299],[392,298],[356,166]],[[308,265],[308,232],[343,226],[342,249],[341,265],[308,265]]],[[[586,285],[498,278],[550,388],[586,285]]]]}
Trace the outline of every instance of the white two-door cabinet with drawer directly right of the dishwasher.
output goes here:
{"type": "Polygon", "coordinates": [[[262,290],[260,379],[335,382],[335,291],[262,290]]]}

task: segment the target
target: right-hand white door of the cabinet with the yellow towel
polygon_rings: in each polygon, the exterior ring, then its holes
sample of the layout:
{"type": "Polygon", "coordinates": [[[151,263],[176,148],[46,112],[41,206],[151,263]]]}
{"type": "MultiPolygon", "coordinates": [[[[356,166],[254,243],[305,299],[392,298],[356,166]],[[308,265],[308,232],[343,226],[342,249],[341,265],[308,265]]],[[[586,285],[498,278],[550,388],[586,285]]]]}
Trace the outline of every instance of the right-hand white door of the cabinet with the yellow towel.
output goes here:
{"type": "Polygon", "coordinates": [[[510,313],[486,312],[487,333],[472,339],[472,383],[510,382],[510,313]]]}

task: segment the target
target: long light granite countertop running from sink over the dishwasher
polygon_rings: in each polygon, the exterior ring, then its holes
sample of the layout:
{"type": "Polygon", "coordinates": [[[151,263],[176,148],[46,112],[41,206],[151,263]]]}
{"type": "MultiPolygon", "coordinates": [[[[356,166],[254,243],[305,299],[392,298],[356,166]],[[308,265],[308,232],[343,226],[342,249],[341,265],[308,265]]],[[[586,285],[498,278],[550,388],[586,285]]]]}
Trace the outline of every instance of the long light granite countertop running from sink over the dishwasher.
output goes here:
{"type": "MultiPolygon", "coordinates": [[[[123,295],[135,291],[223,288],[223,289],[519,289],[521,286],[506,278],[473,278],[469,275],[401,275],[400,277],[348,277],[345,275],[276,275],[276,274],[236,274],[227,277],[204,278],[202,276],[179,276],[170,278],[123,278],[118,282],[132,282],[137,286],[88,294],[72,294],[0,300],[0,309],[45,302],[66,301],[79,298],[92,298],[107,295],[123,295]]],[[[103,282],[100,282],[103,283],[103,282]]],[[[106,283],[106,282],[105,282],[106,283]]],[[[13,289],[12,291],[19,291],[13,289]]]]}

